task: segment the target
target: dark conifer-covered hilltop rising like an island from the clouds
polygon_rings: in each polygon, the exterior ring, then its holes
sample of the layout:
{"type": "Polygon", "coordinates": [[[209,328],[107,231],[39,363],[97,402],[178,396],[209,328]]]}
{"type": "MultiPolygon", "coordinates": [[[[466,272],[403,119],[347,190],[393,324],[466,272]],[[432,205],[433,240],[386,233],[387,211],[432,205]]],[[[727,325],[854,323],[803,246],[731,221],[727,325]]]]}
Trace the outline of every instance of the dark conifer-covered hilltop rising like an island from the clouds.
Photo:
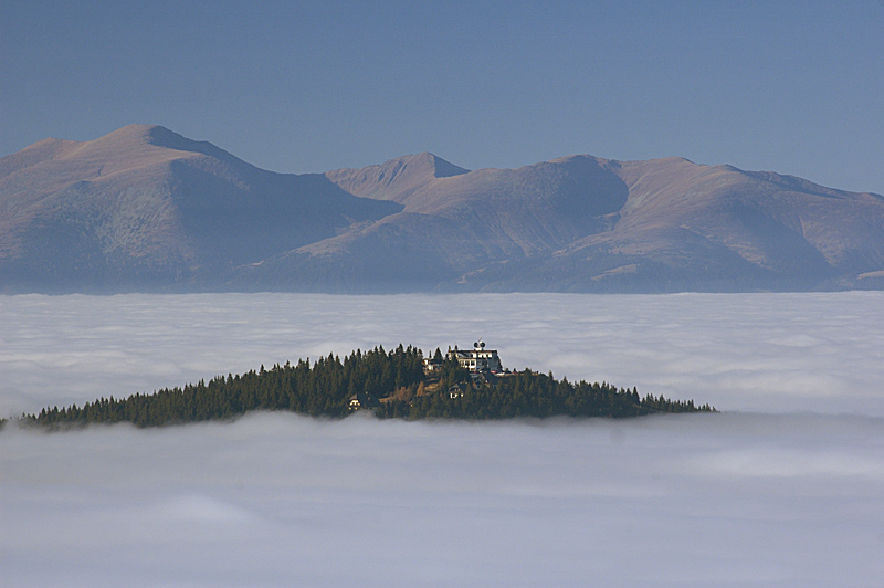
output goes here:
{"type": "MultiPolygon", "coordinates": [[[[439,350],[436,349],[436,354],[439,350]]],[[[156,427],[232,419],[254,410],[288,410],[314,417],[343,418],[355,409],[380,418],[509,419],[517,417],[638,417],[657,412],[714,411],[692,400],[640,397],[638,390],[608,384],[569,382],[526,369],[476,378],[445,360],[433,376],[423,370],[423,354],[400,345],[356,350],[343,360],[329,355],[311,364],[273,366],[240,376],[219,376],[183,388],[101,398],[82,407],[46,408],[22,422],[50,428],[131,422],[156,427]]]]}

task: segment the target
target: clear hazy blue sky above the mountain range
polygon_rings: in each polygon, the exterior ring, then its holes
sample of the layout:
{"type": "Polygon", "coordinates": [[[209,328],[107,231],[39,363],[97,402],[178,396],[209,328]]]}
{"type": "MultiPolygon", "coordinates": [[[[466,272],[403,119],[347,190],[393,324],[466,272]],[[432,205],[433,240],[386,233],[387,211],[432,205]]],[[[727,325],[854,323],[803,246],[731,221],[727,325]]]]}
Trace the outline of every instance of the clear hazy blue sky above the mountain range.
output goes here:
{"type": "Polygon", "coordinates": [[[0,155],[159,124],[276,171],[683,156],[884,192],[884,3],[0,4],[0,155]]]}

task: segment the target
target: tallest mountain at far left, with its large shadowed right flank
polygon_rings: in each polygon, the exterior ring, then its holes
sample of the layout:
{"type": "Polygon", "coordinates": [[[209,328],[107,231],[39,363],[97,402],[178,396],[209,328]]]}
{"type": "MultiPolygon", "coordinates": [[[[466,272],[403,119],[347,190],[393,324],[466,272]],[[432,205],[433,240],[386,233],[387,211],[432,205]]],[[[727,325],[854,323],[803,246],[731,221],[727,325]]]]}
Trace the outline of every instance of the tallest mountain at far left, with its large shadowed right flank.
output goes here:
{"type": "Polygon", "coordinates": [[[0,159],[6,291],[223,287],[227,272],[400,210],[131,125],[0,159]]]}

